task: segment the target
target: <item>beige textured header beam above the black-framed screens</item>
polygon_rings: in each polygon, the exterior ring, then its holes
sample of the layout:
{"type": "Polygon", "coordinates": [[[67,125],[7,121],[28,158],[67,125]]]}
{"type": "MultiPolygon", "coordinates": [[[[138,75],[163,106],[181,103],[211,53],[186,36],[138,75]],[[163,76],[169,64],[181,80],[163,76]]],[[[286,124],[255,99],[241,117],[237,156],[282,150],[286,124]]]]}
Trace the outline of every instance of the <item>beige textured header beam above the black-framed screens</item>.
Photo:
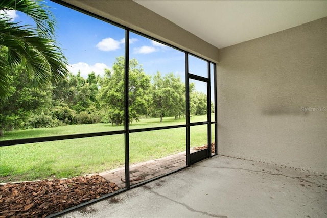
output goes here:
{"type": "Polygon", "coordinates": [[[218,62],[219,50],[215,46],[131,0],[64,0],[64,2],[145,33],[215,63],[218,62]]]}

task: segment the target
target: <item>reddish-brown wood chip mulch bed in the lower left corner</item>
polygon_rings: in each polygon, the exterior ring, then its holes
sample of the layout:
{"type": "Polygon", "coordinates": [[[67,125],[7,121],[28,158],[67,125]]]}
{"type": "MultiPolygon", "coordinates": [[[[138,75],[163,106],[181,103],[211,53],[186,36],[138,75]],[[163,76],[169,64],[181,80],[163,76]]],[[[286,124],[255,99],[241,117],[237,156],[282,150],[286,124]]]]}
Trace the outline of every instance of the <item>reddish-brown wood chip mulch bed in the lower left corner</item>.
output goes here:
{"type": "Polygon", "coordinates": [[[99,175],[0,185],[0,218],[46,217],[119,188],[99,175]]]}

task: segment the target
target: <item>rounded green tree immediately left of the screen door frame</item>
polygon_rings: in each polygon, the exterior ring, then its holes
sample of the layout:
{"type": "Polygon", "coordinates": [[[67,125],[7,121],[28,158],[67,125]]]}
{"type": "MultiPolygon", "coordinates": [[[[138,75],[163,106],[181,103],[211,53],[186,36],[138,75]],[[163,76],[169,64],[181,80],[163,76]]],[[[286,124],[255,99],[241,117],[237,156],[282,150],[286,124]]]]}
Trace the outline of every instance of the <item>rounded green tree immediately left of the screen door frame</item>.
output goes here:
{"type": "Polygon", "coordinates": [[[185,114],[185,85],[179,77],[167,74],[162,77],[160,72],[153,77],[152,88],[153,114],[160,117],[180,116],[185,114]]]}

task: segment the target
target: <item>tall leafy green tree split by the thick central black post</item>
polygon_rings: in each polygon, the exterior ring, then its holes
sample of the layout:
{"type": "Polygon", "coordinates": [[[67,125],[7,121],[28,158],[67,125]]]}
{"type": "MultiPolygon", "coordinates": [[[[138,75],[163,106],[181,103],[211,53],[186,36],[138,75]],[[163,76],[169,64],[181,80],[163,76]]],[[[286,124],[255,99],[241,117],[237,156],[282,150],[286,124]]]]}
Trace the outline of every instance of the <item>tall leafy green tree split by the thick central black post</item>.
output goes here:
{"type": "MultiPolygon", "coordinates": [[[[98,101],[103,108],[111,124],[121,125],[124,123],[124,57],[116,58],[112,70],[106,69],[103,79],[99,82],[101,88],[98,93],[98,101]]],[[[147,112],[150,102],[150,76],[146,75],[143,68],[138,65],[136,59],[129,61],[129,123],[138,120],[147,112]]]]}

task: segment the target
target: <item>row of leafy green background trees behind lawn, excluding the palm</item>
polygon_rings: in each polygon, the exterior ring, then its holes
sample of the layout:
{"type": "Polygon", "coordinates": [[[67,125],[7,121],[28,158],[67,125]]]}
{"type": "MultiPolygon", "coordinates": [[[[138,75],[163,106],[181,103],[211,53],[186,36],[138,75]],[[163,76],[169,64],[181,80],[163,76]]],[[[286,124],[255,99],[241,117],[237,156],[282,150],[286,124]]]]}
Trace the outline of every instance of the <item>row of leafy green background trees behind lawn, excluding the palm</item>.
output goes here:
{"type": "MultiPolygon", "coordinates": [[[[45,87],[26,86],[31,80],[24,66],[10,72],[8,98],[0,105],[2,130],[56,127],[72,124],[124,123],[124,58],[116,58],[104,76],[94,72],[84,79],[69,74],[45,87]]],[[[136,59],[129,61],[129,123],[140,118],[185,116],[185,84],[173,73],[152,78],[136,59]]],[[[190,84],[190,113],[206,114],[206,94],[190,84]]]]}

